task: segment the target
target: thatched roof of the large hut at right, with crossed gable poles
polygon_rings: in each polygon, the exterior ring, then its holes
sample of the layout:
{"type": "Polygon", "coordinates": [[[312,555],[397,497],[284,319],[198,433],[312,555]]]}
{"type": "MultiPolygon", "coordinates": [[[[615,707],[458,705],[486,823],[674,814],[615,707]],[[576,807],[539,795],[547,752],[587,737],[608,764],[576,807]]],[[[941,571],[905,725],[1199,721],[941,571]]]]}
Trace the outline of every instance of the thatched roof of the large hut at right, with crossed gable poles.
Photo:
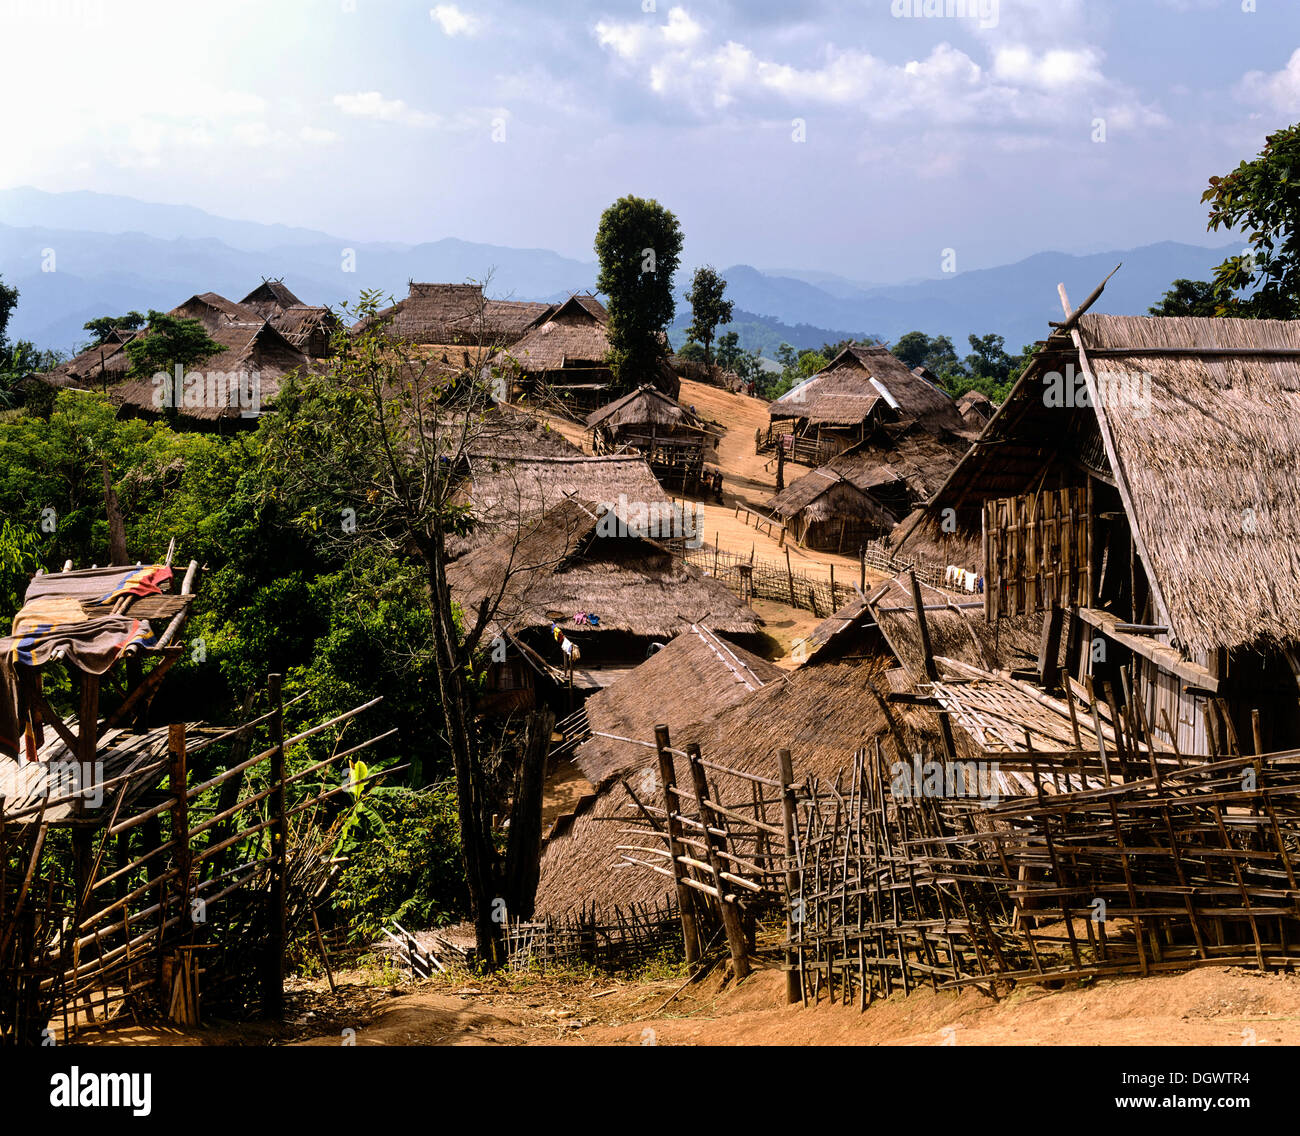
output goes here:
{"type": "Polygon", "coordinates": [[[1049,398],[1082,367],[1053,334],[926,517],[952,507],[978,533],[985,499],[1082,485],[1091,469],[1131,502],[1186,651],[1300,641],[1300,321],[1087,313],[1079,335],[1100,412],[1049,398]]]}

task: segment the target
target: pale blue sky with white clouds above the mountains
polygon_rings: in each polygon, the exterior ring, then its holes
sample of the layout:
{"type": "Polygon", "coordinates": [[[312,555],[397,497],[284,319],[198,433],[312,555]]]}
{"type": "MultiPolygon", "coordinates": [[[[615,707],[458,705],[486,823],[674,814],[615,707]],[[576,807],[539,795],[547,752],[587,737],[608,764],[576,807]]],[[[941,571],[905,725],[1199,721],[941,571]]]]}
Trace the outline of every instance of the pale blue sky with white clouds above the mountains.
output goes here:
{"type": "Polygon", "coordinates": [[[0,0],[0,186],[581,259],[634,192],[688,263],[872,282],[1221,244],[1206,179],[1300,121],[1297,0],[0,0]]]}

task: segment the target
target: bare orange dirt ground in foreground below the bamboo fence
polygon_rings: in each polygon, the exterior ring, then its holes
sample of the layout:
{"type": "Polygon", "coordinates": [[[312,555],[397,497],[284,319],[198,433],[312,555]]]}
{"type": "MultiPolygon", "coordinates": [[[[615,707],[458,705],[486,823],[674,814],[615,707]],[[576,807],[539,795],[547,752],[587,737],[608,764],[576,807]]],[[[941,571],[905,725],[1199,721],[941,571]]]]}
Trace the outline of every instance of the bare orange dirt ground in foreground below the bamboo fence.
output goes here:
{"type": "MultiPolygon", "coordinates": [[[[993,1002],[919,992],[857,1007],[785,1006],[784,976],[738,988],[552,983],[545,976],[425,984],[356,1027],[358,1045],[1295,1045],[1300,977],[1205,968],[993,1002]]],[[[304,1040],[338,1045],[338,1029],[304,1040]]]]}

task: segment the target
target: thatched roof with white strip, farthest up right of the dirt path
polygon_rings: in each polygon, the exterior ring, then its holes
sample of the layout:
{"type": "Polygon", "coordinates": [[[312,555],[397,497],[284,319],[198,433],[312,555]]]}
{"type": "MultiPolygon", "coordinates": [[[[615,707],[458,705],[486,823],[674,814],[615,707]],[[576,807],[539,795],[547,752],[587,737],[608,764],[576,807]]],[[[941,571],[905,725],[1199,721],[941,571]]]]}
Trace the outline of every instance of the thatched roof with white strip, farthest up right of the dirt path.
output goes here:
{"type": "Polygon", "coordinates": [[[953,400],[914,374],[887,347],[845,347],[822,370],[767,408],[772,419],[858,426],[871,419],[920,422],[930,430],[965,428],[953,400]]]}

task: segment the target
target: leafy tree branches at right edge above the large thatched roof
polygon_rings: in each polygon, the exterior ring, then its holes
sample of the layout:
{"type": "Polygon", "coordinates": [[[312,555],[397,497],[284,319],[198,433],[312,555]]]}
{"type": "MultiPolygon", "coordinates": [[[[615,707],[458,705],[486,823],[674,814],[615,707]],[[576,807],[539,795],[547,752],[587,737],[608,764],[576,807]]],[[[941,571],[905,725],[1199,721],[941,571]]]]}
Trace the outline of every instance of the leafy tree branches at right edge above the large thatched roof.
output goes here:
{"type": "Polygon", "coordinates": [[[1210,178],[1201,200],[1209,230],[1236,229],[1249,251],[1214,270],[1218,315],[1294,320],[1300,315],[1300,125],[1270,134],[1252,161],[1210,178]]]}

